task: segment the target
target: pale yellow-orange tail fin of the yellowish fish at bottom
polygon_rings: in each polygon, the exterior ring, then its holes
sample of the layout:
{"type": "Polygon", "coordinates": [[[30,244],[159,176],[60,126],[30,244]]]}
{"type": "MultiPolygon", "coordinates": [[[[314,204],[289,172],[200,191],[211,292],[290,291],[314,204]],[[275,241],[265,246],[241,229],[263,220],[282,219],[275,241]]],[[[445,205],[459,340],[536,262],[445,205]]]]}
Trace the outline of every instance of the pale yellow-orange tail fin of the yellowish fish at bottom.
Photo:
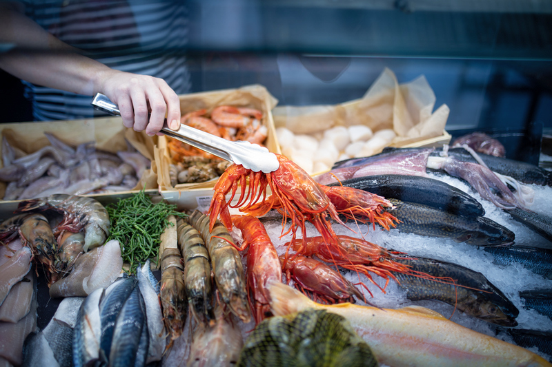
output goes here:
{"type": "Polygon", "coordinates": [[[290,286],[274,282],[270,285],[270,309],[275,316],[296,313],[308,307],[319,308],[317,304],[290,286]]]}

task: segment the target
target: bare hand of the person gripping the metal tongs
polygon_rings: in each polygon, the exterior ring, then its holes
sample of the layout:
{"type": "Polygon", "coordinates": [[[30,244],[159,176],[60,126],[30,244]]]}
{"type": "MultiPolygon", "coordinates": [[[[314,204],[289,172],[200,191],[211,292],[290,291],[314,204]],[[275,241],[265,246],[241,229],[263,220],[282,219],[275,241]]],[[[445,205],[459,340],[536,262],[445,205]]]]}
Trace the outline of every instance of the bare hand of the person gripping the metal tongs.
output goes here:
{"type": "Polygon", "coordinates": [[[170,129],[179,129],[180,101],[163,79],[117,70],[104,72],[99,79],[97,92],[119,105],[125,127],[154,136],[160,134],[167,116],[170,129]]]}

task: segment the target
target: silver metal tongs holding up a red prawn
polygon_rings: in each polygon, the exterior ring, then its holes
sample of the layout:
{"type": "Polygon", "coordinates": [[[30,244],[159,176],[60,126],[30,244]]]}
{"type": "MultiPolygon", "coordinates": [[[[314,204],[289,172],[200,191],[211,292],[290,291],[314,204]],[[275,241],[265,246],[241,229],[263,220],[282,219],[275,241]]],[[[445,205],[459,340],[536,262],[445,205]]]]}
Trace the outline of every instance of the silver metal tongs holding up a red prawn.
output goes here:
{"type": "MultiPolygon", "coordinates": [[[[121,116],[119,106],[112,103],[107,96],[101,93],[96,94],[92,100],[92,106],[110,115],[121,116]]],[[[268,151],[266,147],[251,144],[248,141],[226,140],[184,124],[181,124],[177,131],[171,130],[166,119],[161,132],[219,158],[234,162],[237,165],[243,165],[255,172],[263,171],[268,174],[279,167],[275,154],[268,151]]]]}

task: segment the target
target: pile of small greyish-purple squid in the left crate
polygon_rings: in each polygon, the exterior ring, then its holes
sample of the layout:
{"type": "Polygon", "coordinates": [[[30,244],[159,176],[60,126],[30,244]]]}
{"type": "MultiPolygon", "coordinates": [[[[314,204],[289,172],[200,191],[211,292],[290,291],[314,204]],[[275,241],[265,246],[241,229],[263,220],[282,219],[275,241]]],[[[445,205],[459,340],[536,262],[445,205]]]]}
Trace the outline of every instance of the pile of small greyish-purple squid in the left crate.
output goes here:
{"type": "Polygon", "coordinates": [[[128,191],[151,165],[130,145],[129,151],[112,154],[96,149],[93,141],[72,147],[53,134],[44,135],[50,145],[32,154],[3,138],[0,180],[8,183],[3,200],[128,191]]]}

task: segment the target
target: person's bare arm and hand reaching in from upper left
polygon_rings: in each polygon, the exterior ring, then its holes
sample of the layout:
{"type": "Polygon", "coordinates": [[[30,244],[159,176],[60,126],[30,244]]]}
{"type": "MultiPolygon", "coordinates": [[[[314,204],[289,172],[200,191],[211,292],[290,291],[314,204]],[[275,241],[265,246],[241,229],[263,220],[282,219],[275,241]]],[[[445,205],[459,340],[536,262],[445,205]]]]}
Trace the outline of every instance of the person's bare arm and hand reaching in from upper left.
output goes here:
{"type": "Polygon", "coordinates": [[[119,105],[126,127],[145,130],[148,135],[159,132],[165,115],[172,129],[179,127],[179,98],[163,79],[111,69],[3,5],[0,43],[15,45],[0,54],[0,67],[18,78],[77,94],[106,94],[119,105]]]}

